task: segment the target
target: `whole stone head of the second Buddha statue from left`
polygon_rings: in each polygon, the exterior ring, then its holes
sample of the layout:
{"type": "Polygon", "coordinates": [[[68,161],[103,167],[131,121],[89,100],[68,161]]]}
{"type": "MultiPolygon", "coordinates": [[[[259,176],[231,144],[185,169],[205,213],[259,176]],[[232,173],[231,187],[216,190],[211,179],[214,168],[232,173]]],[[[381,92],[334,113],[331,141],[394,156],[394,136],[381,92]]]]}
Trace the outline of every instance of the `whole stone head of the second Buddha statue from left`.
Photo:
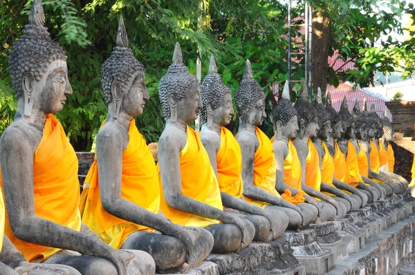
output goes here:
{"type": "Polygon", "coordinates": [[[120,17],[116,47],[101,68],[101,84],[109,112],[117,118],[120,111],[127,115],[142,114],[149,93],[145,86],[144,66],[133,57],[128,47],[127,31],[120,17]]]}

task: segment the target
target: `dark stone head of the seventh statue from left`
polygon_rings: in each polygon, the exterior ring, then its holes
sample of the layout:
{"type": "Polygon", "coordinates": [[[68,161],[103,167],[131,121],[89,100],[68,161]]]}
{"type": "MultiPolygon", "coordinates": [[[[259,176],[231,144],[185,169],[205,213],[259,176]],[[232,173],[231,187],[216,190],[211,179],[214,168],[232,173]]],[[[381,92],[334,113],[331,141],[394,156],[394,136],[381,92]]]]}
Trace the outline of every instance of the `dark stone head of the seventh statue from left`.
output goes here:
{"type": "Polygon", "coordinates": [[[316,137],[317,131],[320,129],[317,124],[317,111],[308,99],[305,82],[302,85],[301,93],[297,98],[297,102],[295,102],[294,108],[298,113],[299,138],[304,136],[309,138],[316,137]]]}

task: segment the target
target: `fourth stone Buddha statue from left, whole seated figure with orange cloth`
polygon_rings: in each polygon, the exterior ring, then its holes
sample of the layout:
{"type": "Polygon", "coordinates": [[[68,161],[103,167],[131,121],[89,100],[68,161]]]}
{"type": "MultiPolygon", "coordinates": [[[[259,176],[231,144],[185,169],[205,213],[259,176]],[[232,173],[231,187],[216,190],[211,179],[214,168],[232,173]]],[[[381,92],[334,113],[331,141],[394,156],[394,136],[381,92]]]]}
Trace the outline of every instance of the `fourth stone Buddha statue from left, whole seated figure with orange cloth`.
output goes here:
{"type": "Polygon", "coordinates": [[[281,211],[266,211],[250,205],[243,198],[241,149],[232,132],[225,128],[234,115],[232,94],[217,73],[213,56],[210,58],[209,73],[201,84],[201,96],[200,138],[218,178],[224,210],[236,212],[241,218],[250,220],[255,226],[254,240],[275,240],[288,226],[288,217],[281,211]],[[287,222],[282,222],[284,220],[287,222]]]}

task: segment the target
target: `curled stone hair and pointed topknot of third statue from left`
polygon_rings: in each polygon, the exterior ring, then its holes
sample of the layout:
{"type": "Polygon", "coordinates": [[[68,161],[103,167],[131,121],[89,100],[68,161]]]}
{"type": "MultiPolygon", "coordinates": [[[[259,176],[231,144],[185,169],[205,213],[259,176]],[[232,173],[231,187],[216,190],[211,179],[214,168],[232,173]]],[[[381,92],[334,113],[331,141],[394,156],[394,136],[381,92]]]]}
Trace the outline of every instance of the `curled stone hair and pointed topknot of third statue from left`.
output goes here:
{"type": "Polygon", "coordinates": [[[169,95],[174,94],[178,100],[190,93],[191,88],[198,84],[197,78],[187,71],[183,64],[183,56],[180,44],[176,43],[172,65],[167,69],[167,74],[158,82],[158,98],[165,120],[170,117],[169,95]]]}

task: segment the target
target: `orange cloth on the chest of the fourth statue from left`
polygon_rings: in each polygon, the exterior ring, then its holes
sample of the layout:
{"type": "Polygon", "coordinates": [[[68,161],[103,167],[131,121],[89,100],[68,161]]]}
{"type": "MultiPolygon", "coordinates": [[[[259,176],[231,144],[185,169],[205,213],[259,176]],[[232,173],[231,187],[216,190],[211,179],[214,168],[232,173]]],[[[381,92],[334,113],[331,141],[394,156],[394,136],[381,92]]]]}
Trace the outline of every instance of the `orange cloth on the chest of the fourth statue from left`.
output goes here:
{"type": "Polygon", "coordinates": [[[221,191],[241,198],[243,191],[241,147],[232,132],[225,127],[221,129],[221,148],[216,153],[216,167],[221,191]]]}

